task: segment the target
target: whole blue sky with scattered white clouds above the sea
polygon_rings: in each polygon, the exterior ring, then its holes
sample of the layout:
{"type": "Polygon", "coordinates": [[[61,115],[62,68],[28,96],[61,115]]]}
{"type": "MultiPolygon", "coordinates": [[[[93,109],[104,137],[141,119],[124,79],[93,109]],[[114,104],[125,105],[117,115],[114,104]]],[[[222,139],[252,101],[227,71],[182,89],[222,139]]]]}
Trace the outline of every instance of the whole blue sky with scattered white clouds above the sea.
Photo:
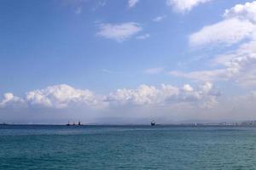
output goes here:
{"type": "Polygon", "coordinates": [[[256,1],[2,0],[0,122],[256,119],[256,1]]]}

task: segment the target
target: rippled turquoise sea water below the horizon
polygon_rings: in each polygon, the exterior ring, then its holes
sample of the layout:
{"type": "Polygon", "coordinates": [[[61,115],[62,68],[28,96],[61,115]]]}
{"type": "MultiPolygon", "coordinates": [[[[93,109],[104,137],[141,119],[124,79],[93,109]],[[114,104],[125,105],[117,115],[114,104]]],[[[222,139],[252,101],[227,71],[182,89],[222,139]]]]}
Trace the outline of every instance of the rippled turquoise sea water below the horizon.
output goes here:
{"type": "Polygon", "coordinates": [[[0,169],[256,169],[256,128],[0,126],[0,169]]]}

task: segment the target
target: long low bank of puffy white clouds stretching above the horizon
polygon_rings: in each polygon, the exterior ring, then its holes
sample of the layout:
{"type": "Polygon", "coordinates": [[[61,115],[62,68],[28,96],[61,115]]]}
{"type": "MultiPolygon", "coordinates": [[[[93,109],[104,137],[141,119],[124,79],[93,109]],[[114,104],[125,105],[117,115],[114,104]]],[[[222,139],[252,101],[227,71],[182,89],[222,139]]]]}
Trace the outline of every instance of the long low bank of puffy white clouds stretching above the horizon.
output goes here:
{"type": "Polygon", "coordinates": [[[90,108],[94,110],[108,109],[108,105],[172,105],[187,102],[191,105],[204,104],[207,99],[217,99],[210,82],[197,88],[185,84],[182,88],[162,84],[160,88],[141,85],[135,89],[118,89],[108,95],[94,94],[88,89],[76,89],[66,84],[49,86],[44,89],[26,93],[23,98],[14,94],[4,94],[0,102],[3,108],[9,104],[26,104],[32,108],[65,109],[73,107],[90,108]]]}

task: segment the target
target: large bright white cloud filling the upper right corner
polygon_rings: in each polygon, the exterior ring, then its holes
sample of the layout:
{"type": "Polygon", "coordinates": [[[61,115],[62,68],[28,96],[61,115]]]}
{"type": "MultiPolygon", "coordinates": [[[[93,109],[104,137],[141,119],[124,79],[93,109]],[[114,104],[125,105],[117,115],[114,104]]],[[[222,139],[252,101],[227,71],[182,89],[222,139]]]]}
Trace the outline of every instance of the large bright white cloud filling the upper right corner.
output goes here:
{"type": "Polygon", "coordinates": [[[204,26],[200,31],[190,35],[189,42],[193,46],[210,43],[234,44],[244,39],[255,38],[256,2],[237,4],[226,9],[224,20],[211,26],[204,26]]]}

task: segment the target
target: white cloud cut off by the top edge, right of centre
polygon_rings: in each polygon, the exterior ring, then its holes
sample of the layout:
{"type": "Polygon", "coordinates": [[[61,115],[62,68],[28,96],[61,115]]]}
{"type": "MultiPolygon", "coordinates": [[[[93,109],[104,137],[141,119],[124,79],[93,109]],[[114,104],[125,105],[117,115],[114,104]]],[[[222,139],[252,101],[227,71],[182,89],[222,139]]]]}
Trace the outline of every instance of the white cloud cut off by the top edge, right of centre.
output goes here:
{"type": "Polygon", "coordinates": [[[177,12],[189,12],[201,3],[207,3],[211,0],[167,0],[166,4],[172,6],[177,12]]]}

